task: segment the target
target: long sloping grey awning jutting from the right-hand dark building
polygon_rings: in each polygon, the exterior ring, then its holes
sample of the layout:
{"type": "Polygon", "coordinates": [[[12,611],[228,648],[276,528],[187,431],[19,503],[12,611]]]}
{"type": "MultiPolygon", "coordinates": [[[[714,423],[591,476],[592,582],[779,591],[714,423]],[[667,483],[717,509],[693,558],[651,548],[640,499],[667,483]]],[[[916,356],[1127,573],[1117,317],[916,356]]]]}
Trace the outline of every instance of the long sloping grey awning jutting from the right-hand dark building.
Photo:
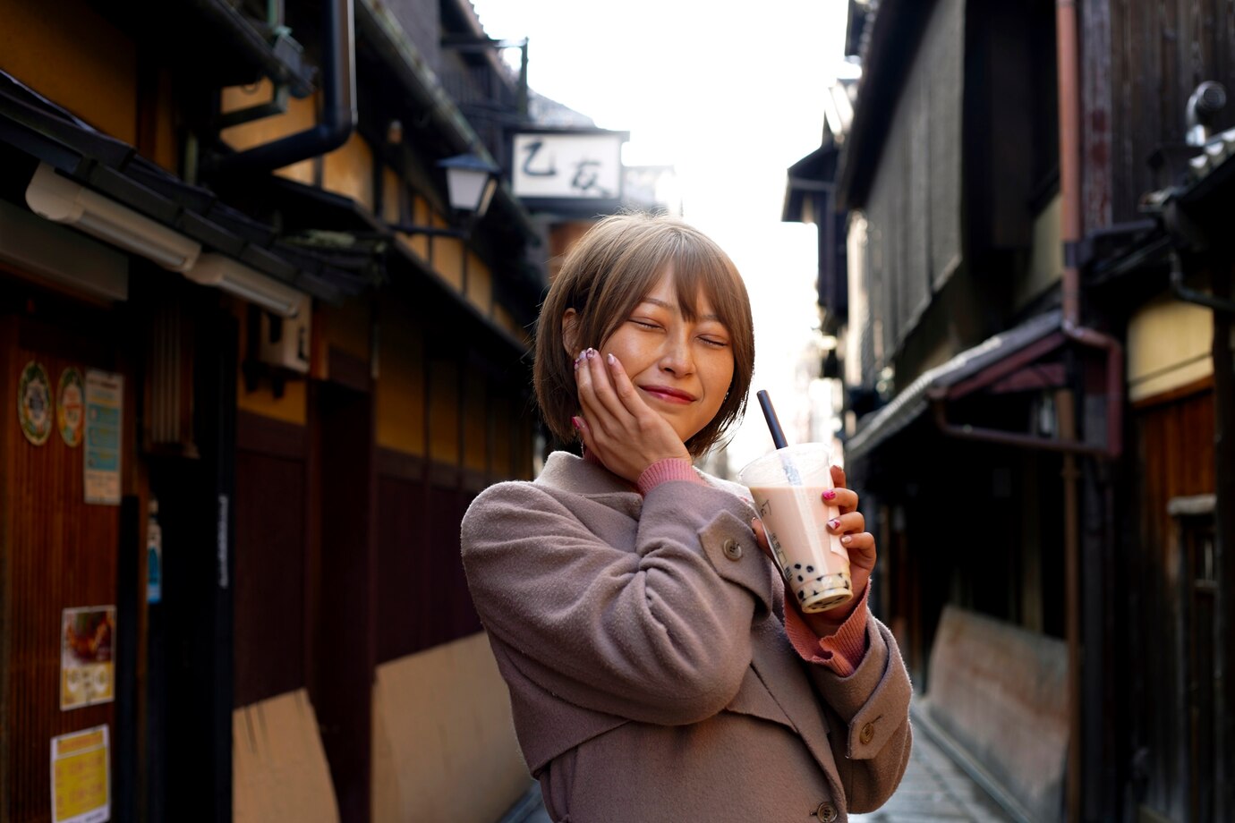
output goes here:
{"type": "Polygon", "coordinates": [[[845,458],[855,460],[878,448],[923,415],[932,399],[967,394],[968,381],[979,376],[998,379],[1003,373],[1015,371],[1065,342],[1067,337],[1062,328],[1062,313],[1056,310],[961,352],[947,363],[923,373],[892,402],[869,415],[857,433],[846,442],[845,458]],[[989,370],[994,368],[1000,374],[990,374],[989,370]]]}

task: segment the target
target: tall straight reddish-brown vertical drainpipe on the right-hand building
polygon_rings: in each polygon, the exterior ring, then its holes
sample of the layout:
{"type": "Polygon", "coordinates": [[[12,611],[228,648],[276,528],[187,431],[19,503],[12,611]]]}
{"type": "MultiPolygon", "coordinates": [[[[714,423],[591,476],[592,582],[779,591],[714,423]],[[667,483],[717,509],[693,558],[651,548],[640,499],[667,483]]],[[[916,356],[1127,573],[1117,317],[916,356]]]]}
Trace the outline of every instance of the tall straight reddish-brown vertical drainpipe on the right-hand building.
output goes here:
{"type": "MultiPolygon", "coordinates": [[[[1081,325],[1081,271],[1074,249],[1081,241],[1081,72],[1076,0],[1056,0],[1055,52],[1060,101],[1061,239],[1067,250],[1063,267],[1063,328],[1081,325]]],[[[1076,396],[1063,389],[1056,399],[1058,432],[1076,438],[1076,396]]],[[[1113,421],[1112,421],[1113,422],[1113,421]]],[[[1068,759],[1066,780],[1067,819],[1081,821],[1081,536],[1077,455],[1063,453],[1063,563],[1066,635],[1068,647],[1068,759]]]]}

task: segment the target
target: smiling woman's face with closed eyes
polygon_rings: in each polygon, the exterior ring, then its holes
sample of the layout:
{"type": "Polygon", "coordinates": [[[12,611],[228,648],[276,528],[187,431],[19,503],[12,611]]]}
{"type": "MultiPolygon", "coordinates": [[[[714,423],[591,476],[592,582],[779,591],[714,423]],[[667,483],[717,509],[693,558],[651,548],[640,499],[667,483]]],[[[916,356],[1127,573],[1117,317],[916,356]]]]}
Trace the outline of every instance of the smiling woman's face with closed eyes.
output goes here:
{"type": "Polygon", "coordinates": [[[601,354],[621,360],[647,405],[683,442],[711,422],[734,379],[729,329],[701,291],[695,311],[694,321],[682,316],[667,269],[600,345],[601,354]]]}

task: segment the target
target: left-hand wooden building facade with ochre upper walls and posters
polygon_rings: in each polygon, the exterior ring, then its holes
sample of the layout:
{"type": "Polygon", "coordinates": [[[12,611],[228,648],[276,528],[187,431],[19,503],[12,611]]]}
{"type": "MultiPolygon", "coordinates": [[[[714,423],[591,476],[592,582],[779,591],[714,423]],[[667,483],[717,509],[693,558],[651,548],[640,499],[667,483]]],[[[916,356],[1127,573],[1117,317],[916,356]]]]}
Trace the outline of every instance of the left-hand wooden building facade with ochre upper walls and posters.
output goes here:
{"type": "Polygon", "coordinates": [[[0,19],[0,821],[86,743],[110,819],[496,819],[527,776],[458,526],[534,471],[547,253],[503,179],[447,200],[506,148],[446,89],[517,116],[442,46],[471,4],[0,19]]]}

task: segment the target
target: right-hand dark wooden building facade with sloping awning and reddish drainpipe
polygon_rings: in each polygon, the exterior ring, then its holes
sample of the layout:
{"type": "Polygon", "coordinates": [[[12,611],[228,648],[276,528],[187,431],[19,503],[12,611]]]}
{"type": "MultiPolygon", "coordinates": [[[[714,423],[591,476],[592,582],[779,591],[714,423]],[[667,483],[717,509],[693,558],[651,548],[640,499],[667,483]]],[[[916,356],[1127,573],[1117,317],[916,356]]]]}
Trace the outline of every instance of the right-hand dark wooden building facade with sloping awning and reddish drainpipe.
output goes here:
{"type": "Polygon", "coordinates": [[[851,2],[862,79],[820,183],[874,602],[923,728],[1023,819],[1235,813],[1235,109],[1203,85],[1235,88],[1231,15],[851,2]],[[963,645],[990,632],[1029,674],[948,693],[932,660],[998,656],[963,645]]]}

